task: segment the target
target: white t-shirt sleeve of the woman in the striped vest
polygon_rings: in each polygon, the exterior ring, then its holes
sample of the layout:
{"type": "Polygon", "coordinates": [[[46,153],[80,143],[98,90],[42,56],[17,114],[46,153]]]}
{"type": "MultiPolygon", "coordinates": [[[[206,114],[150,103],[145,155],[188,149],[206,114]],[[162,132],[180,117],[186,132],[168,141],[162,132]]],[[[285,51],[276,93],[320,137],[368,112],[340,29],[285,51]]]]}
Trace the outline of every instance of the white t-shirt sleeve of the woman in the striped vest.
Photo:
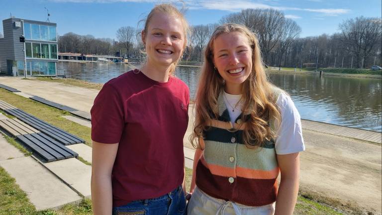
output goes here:
{"type": "Polygon", "coordinates": [[[282,155],[304,151],[300,114],[293,101],[288,95],[281,93],[277,105],[282,120],[276,136],[276,153],[282,155]]]}

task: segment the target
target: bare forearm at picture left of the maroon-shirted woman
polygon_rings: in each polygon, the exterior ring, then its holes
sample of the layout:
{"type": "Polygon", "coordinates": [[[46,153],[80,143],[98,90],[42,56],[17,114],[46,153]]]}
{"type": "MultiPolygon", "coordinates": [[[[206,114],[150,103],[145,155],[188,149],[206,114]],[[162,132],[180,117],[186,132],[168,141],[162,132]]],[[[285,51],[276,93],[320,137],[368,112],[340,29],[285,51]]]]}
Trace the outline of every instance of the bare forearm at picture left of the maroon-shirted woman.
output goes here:
{"type": "Polygon", "coordinates": [[[111,177],[92,175],[92,207],[94,215],[111,215],[112,186],[111,177]]]}

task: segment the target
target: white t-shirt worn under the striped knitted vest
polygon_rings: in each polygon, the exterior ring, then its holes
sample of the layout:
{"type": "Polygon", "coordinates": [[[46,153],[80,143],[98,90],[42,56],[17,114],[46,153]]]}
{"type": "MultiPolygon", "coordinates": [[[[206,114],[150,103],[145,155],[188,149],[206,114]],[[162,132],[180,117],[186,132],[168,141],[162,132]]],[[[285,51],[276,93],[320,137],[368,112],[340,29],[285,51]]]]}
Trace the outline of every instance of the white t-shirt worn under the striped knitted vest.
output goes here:
{"type": "MultiPolygon", "coordinates": [[[[224,92],[225,106],[228,109],[232,123],[235,123],[236,118],[241,113],[243,102],[240,101],[240,98],[241,95],[231,95],[224,92]],[[232,111],[233,108],[234,111],[232,111]]],[[[276,132],[276,153],[283,155],[305,151],[300,114],[293,101],[288,95],[281,93],[277,105],[280,108],[282,121],[276,132]]]]}

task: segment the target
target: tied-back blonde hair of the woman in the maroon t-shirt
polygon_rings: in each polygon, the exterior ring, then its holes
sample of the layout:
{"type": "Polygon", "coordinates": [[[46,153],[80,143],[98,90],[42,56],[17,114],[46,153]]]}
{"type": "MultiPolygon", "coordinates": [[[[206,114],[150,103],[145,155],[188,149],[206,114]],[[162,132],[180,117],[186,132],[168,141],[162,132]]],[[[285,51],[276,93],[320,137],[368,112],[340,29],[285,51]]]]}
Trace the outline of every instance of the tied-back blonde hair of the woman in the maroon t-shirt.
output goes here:
{"type": "MultiPolygon", "coordinates": [[[[150,24],[150,21],[153,18],[153,15],[155,13],[157,13],[157,12],[161,12],[161,13],[164,13],[164,14],[172,15],[172,16],[177,17],[177,18],[179,18],[181,20],[182,26],[183,26],[184,39],[185,39],[185,44],[183,46],[183,52],[184,52],[185,48],[187,46],[187,42],[188,42],[187,37],[188,37],[188,35],[191,32],[189,23],[187,22],[186,17],[184,15],[184,13],[186,12],[185,5],[183,5],[183,7],[181,9],[177,9],[174,5],[172,5],[170,3],[161,3],[161,4],[155,5],[154,8],[151,9],[151,11],[147,15],[147,17],[145,19],[142,19],[142,20],[139,21],[139,22],[144,22],[145,23],[142,31],[140,33],[138,33],[138,35],[140,34],[140,36],[141,36],[141,40],[143,41],[143,37],[146,35],[145,32],[148,31],[148,26],[150,24]]],[[[182,52],[182,56],[183,56],[183,52],[182,52]]],[[[143,53],[146,54],[146,52],[143,52],[143,53]]],[[[178,65],[179,61],[181,61],[181,59],[182,59],[182,57],[180,57],[176,62],[174,62],[171,65],[170,75],[174,74],[175,68],[177,67],[177,65],[178,65]]]]}

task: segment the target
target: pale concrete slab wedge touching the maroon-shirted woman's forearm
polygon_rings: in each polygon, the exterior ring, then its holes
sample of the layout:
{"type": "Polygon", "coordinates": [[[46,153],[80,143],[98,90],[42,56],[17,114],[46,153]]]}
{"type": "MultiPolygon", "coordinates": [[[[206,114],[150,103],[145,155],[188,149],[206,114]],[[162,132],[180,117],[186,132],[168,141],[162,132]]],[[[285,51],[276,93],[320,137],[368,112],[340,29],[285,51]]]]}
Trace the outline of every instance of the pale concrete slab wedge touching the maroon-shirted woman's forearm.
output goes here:
{"type": "Polygon", "coordinates": [[[91,197],[91,166],[76,158],[43,163],[43,165],[77,193],[87,198],[91,197]]]}

